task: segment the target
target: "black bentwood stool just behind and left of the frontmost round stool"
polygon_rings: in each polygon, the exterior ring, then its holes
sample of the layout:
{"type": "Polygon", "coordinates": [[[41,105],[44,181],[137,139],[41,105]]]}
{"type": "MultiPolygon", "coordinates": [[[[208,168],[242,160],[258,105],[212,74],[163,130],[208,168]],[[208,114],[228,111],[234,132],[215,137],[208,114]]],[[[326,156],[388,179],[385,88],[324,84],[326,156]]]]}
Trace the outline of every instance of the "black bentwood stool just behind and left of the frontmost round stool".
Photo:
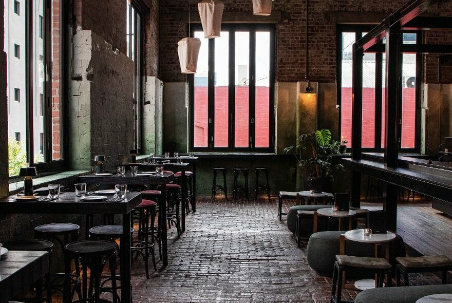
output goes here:
{"type": "MultiPolygon", "coordinates": [[[[80,226],[73,223],[49,223],[36,226],[34,228],[34,237],[37,239],[56,241],[59,243],[62,251],[66,244],[77,241],[79,238],[80,226]]],[[[74,263],[76,274],[71,274],[71,283],[74,285],[72,293],[80,293],[80,266],[77,260],[74,263]]],[[[63,273],[51,274],[52,289],[63,292],[63,273]]]]}

